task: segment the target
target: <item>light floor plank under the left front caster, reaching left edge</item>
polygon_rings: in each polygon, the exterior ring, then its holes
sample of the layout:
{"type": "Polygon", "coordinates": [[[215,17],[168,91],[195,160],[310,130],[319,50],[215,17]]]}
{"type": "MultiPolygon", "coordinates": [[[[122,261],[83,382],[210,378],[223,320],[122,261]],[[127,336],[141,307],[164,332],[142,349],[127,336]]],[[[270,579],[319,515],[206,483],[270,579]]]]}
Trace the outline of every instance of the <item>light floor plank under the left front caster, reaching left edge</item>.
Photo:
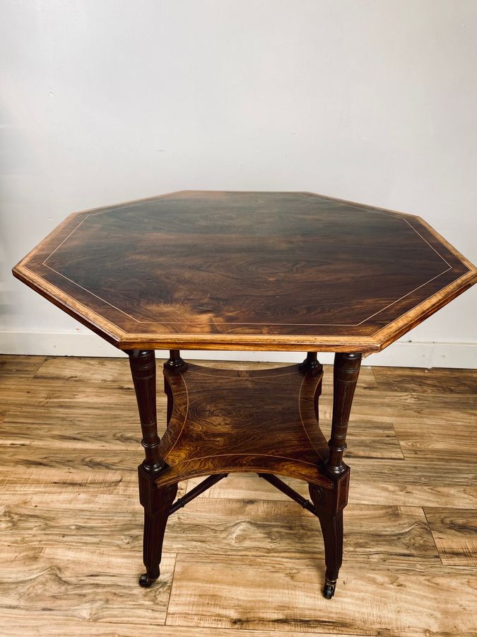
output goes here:
{"type": "Polygon", "coordinates": [[[15,609],[38,621],[165,623],[175,554],[165,553],[157,586],[137,584],[141,553],[100,542],[0,546],[0,617],[15,609]]]}

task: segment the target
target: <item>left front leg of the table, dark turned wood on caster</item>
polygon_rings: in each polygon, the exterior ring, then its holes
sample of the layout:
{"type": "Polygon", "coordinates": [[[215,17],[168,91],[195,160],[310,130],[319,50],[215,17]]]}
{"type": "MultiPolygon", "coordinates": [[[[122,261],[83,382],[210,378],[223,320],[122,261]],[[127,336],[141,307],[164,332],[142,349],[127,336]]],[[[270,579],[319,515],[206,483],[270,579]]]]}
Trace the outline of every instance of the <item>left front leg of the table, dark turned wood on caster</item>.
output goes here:
{"type": "Polygon", "coordinates": [[[148,587],[160,574],[165,526],[177,493],[177,484],[160,488],[155,484],[155,478],[165,468],[165,463],[159,455],[154,351],[134,350],[128,353],[141,419],[141,444],[145,454],[138,473],[139,501],[144,507],[143,561],[146,573],[139,578],[139,584],[148,587]]]}

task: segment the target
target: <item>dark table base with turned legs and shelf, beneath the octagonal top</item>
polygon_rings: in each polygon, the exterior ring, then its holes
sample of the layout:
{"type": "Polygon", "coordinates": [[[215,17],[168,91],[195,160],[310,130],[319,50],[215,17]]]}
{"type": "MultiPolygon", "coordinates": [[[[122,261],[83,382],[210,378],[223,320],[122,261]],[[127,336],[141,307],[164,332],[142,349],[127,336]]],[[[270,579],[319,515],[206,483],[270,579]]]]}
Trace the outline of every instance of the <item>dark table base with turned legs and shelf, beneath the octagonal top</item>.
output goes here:
{"type": "Polygon", "coordinates": [[[187,364],[179,351],[172,350],[164,365],[167,429],[162,440],[153,407],[153,355],[129,352],[146,453],[139,466],[146,573],[139,583],[148,587],[159,576],[172,512],[230,472],[253,471],[319,518],[326,561],[324,595],[331,598],[343,553],[349,468],[342,456],[360,355],[336,355],[328,444],[318,424],[323,371],[315,352],[308,352],[301,365],[242,372],[187,364]],[[211,475],[172,505],[179,481],[207,474],[211,475]],[[312,503],[274,474],[307,481],[312,503]]]}

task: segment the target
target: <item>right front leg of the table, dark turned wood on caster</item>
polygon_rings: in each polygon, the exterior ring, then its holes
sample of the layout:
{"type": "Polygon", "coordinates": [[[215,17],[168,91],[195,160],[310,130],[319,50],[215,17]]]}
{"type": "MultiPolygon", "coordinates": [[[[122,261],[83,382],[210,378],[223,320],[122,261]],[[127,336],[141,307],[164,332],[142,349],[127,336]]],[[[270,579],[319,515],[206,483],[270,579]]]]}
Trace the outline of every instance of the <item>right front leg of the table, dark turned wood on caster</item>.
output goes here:
{"type": "Polygon", "coordinates": [[[338,353],[334,359],[333,418],[328,442],[329,457],[324,464],[326,474],[334,480],[333,490],[310,484],[310,498],[317,510],[322,527],[326,573],[324,596],[334,595],[338,572],[343,560],[343,508],[348,503],[349,467],[343,462],[346,433],[360,373],[361,355],[338,353]]]}

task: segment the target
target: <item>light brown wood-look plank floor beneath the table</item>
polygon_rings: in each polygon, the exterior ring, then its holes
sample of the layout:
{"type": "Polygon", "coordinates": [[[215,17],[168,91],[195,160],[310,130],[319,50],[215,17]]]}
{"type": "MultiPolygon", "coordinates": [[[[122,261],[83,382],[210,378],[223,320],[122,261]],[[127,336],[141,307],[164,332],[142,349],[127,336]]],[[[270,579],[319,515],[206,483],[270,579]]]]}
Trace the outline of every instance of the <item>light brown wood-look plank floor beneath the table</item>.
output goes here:
{"type": "MultiPolygon", "coordinates": [[[[0,357],[0,634],[477,635],[476,394],[475,371],[362,369],[334,599],[317,520],[245,474],[171,517],[145,590],[127,360],[0,357]]],[[[326,434],[330,410],[326,368],[326,434]]]]}

